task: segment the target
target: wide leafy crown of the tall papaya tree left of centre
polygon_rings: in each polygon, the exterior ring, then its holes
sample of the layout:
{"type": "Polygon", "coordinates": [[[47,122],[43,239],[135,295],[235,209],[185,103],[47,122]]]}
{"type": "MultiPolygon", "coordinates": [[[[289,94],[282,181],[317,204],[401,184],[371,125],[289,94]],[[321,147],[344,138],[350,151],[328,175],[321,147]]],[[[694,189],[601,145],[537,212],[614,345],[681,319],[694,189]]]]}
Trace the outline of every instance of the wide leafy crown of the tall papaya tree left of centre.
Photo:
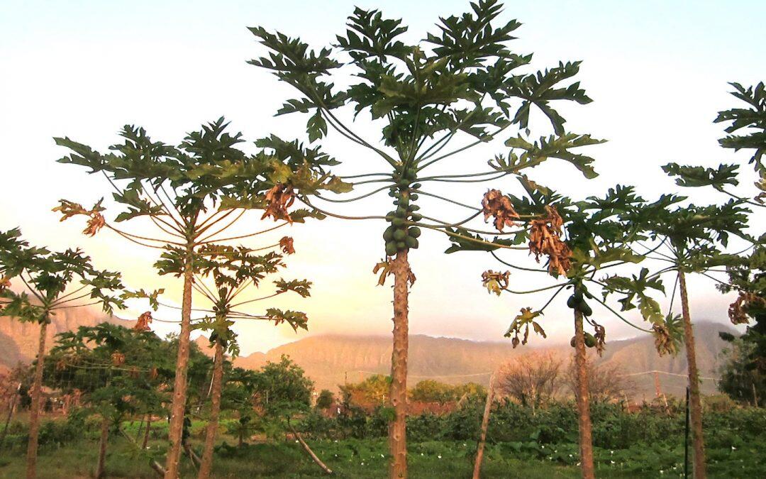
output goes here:
{"type": "MultiPolygon", "coordinates": [[[[116,221],[143,215],[175,218],[167,201],[182,222],[191,225],[211,207],[263,208],[264,193],[277,184],[289,184],[307,194],[341,187],[326,172],[334,164],[329,157],[305,152],[286,157],[266,149],[247,154],[238,147],[244,143],[242,134],[228,133],[227,127],[220,118],[172,146],[152,140],[141,127],[126,125],[119,133],[123,143],[110,146],[110,153],[99,153],[69,138],[55,141],[72,151],[59,162],[86,166],[90,173],[101,172],[113,183],[113,198],[123,206],[116,221]]],[[[276,147],[268,139],[262,141],[264,148],[276,147]]],[[[300,150],[297,145],[294,148],[300,150]]]]}

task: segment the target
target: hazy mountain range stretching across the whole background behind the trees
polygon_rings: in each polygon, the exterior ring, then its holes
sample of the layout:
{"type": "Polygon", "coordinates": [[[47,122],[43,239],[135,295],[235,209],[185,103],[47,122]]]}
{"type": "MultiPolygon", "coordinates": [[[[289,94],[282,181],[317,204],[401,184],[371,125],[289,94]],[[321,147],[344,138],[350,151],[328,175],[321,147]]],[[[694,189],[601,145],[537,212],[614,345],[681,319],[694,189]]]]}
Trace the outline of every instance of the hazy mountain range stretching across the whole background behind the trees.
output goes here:
{"type": "MultiPolygon", "coordinates": [[[[61,310],[51,321],[46,333],[46,349],[54,345],[54,336],[79,326],[95,326],[108,322],[133,327],[135,321],[121,320],[96,310],[61,310]]],[[[20,323],[10,317],[0,317],[0,372],[17,363],[31,363],[38,350],[40,326],[20,323]]],[[[694,326],[697,360],[703,378],[718,377],[719,355],[726,343],[719,331],[738,334],[731,326],[721,323],[700,322],[694,326]]],[[[207,337],[199,336],[195,343],[203,353],[212,356],[207,337]]],[[[487,385],[489,376],[502,363],[533,351],[551,352],[568,362],[572,349],[568,345],[548,346],[545,340],[535,338],[534,345],[513,349],[509,342],[460,340],[425,335],[410,336],[408,382],[414,385],[423,379],[458,384],[478,382],[487,385]]],[[[306,370],[316,389],[336,391],[344,382],[358,382],[372,374],[388,374],[391,370],[391,338],[389,336],[309,336],[293,343],[270,349],[267,353],[253,353],[234,359],[236,366],[258,369],[267,361],[277,362],[282,355],[290,356],[306,370]]],[[[654,395],[653,374],[660,371],[660,387],[669,395],[683,395],[686,388],[686,354],[657,355],[653,338],[643,334],[629,340],[607,340],[604,357],[599,363],[617,364],[624,374],[631,375],[636,384],[633,399],[651,399],[654,395]]],[[[715,382],[703,379],[702,392],[715,393],[715,382]]]]}

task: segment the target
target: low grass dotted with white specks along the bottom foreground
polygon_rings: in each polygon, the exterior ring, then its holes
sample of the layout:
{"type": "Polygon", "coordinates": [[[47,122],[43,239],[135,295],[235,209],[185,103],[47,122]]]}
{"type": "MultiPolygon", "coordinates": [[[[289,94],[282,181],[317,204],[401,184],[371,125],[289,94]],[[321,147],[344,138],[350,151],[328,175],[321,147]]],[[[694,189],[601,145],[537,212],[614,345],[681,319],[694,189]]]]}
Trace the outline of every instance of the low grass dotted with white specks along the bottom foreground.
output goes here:
{"type": "MultiPolygon", "coordinates": [[[[138,432],[137,427],[137,423],[123,425],[126,433],[133,437],[138,432]]],[[[191,441],[198,451],[201,450],[202,430],[202,423],[192,425],[191,441]]],[[[158,422],[148,451],[138,451],[121,436],[113,437],[106,458],[106,477],[157,477],[149,468],[149,458],[156,458],[160,464],[164,462],[166,434],[166,424],[158,422]]],[[[11,441],[15,445],[0,455],[0,477],[24,477],[23,439],[19,437],[17,441],[11,441]]],[[[715,441],[712,443],[715,445],[715,441]]],[[[319,458],[336,472],[336,477],[388,477],[387,443],[383,438],[309,441],[309,444],[319,458]]],[[[470,477],[474,448],[475,443],[470,441],[411,442],[408,449],[410,475],[434,479],[470,477]]],[[[766,444],[760,438],[736,447],[719,445],[709,448],[709,477],[766,477],[766,457],[761,454],[763,448],[766,444]]],[[[534,441],[488,445],[482,477],[580,477],[577,450],[574,444],[545,446],[534,441]]],[[[598,477],[682,476],[683,445],[635,444],[628,449],[608,451],[595,448],[594,451],[598,477]]],[[[85,438],[74,441],[50,443],[41,447],[38,477],[92,477],[96,460],[95,434],[85,434],[85,438]]],[[[195,476],[195,469],[184,458],[182,477],[195,476]]],[[[237,448],[235,438],[222,435],[213,477],[326,476],[293,441],[280,439],[237,448]]]]}

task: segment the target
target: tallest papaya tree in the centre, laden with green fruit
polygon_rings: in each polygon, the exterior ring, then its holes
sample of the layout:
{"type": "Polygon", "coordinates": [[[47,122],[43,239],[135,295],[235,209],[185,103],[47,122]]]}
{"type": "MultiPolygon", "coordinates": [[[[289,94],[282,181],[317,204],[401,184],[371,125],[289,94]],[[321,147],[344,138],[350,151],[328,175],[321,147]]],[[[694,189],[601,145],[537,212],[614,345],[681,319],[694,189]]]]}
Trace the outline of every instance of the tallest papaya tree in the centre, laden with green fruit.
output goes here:
{"type": "MultiPolygon", "coordinates": [[[[531,70],[532,55],[509,48],[519,22],[501,21],[501,12],[497,0],[480,0],[463,15],[441,18],[436,33],[405,43],[408,28],[401,19],[356,8],[347,30],[336,36],[336,43],[314,50],[300,38],[262,27],[250,28],[268,50],[266,56],[250,64],[271,71],[299,94],[287,100],[277,115],[308,113],[306,133],[310,142],[322,140],[332,130],[332,134],[368,153],[341,158],[358,168],[358,173],[342,179],[364,192],[347,198],[319,195],[316,201],[299,196],[325,215],[388,222],[381,241],[384,259],[375,271],[381,271],[381,284],[388,274],[394,276],[389,395],[394,413],[389,425],[391,477],[407,476],[408,294],[415,280],[409,253],[419,245],[421,228],[447,231],[451,238],[467,241],[474,241],[470,232],[482,231],[467,225],[479,215],[476,212],[468,218],[448,220],[434,218],[436,213],[421,212],[417,204],[421,196],[450,207],[466,206],[460,198],[439,195],[425,185],[491,181],[548,158],[572,162],[586,176],[594,174],[591,159],[571,149],[599,140],[568,133],[565,119],[554,108],[558,100],[591,101],[579,82],[572,81],[580,62],[559,63],[545,71],[531,70]],[[338,86],[333,79],[340,76],[351,77],[352,84],[338,86]],[[529,136],[534,123],[530,121],[532,110],[542,112],[546,119],[543,121],[552,125],[552,135],[538,139],[529,136]],[[365,139],[358,133],[362,113],[369,115],[372,128],[379,129],[380,139],[365,139]],[[486,159],[476,159],[472,149],[501,137],[513,149],[510,156],[491,160],[489,167],[486,159]],[[470,153],[473,157],[468,156],[470,153]],[[437,169],[457,159],[466,171],[454,173],[454,163],[441,172],[437,169]],[[394,199],[394,211],[365,216],[327,211],[332,209],[329,204],[385,193],[394,199]]],[[[542,127],[547,128],[545,124],[542,127]]]]}

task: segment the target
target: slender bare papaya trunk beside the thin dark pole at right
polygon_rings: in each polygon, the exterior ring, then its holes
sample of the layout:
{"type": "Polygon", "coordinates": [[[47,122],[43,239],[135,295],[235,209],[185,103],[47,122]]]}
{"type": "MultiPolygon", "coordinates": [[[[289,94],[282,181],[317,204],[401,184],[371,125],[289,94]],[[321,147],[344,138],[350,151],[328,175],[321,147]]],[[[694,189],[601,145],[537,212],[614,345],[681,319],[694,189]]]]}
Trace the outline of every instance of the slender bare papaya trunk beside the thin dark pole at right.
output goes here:
{"type": "Polygon", "coordinates": [[[689,402],[692,416],[692,444],[694,447],[694,477],[704,479],[705,470],[705,441],[702,438],[702,402],[699,399],[699,371],[697,371],[697,356],[694,349],[694,331],[692,318],[689,315],[689,297],[686,294],[686,276],[683,271],[678,273],[679,290],[681,292],[681,309],[683,313],[683,340],[686,344],[686,363],[689,371],[689,402]]]}

